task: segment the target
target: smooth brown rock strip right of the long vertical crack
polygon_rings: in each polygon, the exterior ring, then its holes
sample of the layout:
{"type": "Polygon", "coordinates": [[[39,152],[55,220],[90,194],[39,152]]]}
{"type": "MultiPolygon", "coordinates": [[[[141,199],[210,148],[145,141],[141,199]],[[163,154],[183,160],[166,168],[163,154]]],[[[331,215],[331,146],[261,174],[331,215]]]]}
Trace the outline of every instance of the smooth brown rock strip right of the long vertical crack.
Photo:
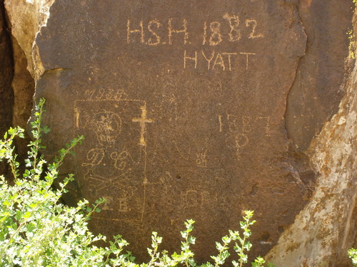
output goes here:
{"type": "Polygon", "coordinates": [[[285,115],[288,138],[296,150],[308,149],[326,119],[337,112],[345,93],[343,58],[348,56],[351,6],[349,0],[299,1],[299,16],[308,36],[306,55],[299,62],[285,115]]]}

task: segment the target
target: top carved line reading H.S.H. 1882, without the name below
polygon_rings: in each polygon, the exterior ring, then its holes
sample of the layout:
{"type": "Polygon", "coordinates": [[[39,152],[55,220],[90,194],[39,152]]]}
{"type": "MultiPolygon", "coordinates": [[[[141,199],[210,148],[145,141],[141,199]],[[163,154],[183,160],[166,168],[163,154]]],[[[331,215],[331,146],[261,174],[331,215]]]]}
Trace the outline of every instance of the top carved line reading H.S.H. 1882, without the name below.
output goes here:
{"type": "MultiPolygon", "coordinates": [[[[148,23],[144,23],[144,20],[128,19],[126,43],[142,43],[147,46],[186,45],[190,43],[189,36],[191,36],[188,21],[188,19],[170,18],[151,19],[148,23]],[[165,30],[161,31],[161,28],[165,30]]],[[[204,21],[201,36],[203,46],[219,46],[224,41],[237,42],[242,38],[264,38],[256,19],[246,19],[241,23],[237,14],[224,14],[219,21],[204,21]],[[246,36],[241,33],[243,28],[248,29],[244,31],[246,36]]]]}

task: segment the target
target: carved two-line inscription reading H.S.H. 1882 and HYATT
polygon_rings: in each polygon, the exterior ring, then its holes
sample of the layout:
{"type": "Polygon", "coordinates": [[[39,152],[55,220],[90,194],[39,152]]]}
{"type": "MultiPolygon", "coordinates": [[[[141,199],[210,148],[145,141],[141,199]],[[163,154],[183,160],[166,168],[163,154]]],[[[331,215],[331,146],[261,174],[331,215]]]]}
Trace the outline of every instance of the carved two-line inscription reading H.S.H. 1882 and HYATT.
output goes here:
{"type": "MultiPolygon", "coordinates": [[[[259,40],[264,38],[262,29],[256,19],[246,19],[241,22],[238,14],[224,14],[217,21],[203,21],[201,40],[202,49],[192,51],[185,48],[195,45],[190,36],[190,23],[188,19],[170,18],[167,20],[151,19],[149,22],[137,19],[128,19],[126,23],[126,43],[142,44],[146,46],[183,46],[183,68],[196,69],[204,66],[211,71],[232,71],[234,61],[238,57],[245,58],[245,68],[248,70],[251,56],[256,56],[253,51],[220,51],[219,46],[224,43],[237,43],[243,39],[259,40]],[[208,51],[206,48],[215,48],[208,51]]],[[[241,66],[236,66],[241,68],[241,66]]]]}

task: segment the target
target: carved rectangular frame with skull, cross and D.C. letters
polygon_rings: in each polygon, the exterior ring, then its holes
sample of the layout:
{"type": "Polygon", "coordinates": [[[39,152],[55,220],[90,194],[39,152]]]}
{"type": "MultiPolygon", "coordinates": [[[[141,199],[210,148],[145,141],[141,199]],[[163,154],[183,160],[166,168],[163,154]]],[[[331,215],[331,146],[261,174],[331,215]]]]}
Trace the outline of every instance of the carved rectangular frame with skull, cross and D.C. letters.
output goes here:
{"type": "MultiPolygon", "coordinates": [[[[76,129],[86,132],[81,168],[94,199],[106,196],[104,211],[120,211],[122,220],[141,220],[146,194],[146,124],[154,122],[146,102],[126,99],[123,90],[86,90],[76,100],[76,129]]],[[[81,150],[83,151],[83,149],[81,150]]],[[[82,152],[79,152],[82,153],[82,152]]]]}

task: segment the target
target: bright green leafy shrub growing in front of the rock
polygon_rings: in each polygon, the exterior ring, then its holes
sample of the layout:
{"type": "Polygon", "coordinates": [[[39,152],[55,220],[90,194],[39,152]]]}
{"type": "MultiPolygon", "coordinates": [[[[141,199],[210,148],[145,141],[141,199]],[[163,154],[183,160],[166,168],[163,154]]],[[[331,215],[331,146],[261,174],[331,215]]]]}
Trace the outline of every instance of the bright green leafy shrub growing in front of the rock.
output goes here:
{"type": "MultiPolygon", "coordinates": [[[[149,263],[134,263],[130,252],[123,253],[128,243],[121,236],[114,236],[114,241],[106,243],[109,247],[96,246],[97,241],[105,241],[105,236],[95,236],[88,229],[91,214],[99,210],[104,199],[89,205],[88,201],[79,201],[77,206],[69,207],[61,203],[66,184],[73,175],[66,177],[54,189],[54,180],[59,175],[59,167],[64,157],[73,154],[73,148],[82,142],[79,136],[59,150],[59,156],[53,163],[47,163],[39,155],[41,135],[49,132],[41,125],[44,112],[44,99],[40,100],[34,113],[36,119],[31,122],[34,141],[29,144],[29,157],[25,160],[26,170],[19,174],[19,162],[14,154],[14,138],[24,137],[20,127],[10,128],[0,140],[0,161],[6,160],[13,177],[0,176],[0,266],[197,266],[191,245],[195,238],[191,236],[194,221],[186,221],[186,230],[181,231],[183,241],[180,253],[171,256],[167,251],[159,252],[162,238],[156,232],[151,236],[151,248],[148,248],[149,263]],[[46,171],[44,170],[46,165],[46,171]],[[11,180],[11,183],[9,181],[11,180]]],[[[238,261],[231,261],[233,266],[243,266],[248,261],[246,251],[251,248],[248,238],[253,211],[246,211],[241,221],[243,235],[238,231],[229,231],[222,242],[216,242],[218,255],[211,256],[213,263],[201,266],[221,266],[230,253],[228,246],[234,241],[233,248],[238,261]]],[[[251,266],[263,266],[265,261],[258,257],[251,266]]],[[[269,265],[268,266],[272,266],[269,265]]]]}

